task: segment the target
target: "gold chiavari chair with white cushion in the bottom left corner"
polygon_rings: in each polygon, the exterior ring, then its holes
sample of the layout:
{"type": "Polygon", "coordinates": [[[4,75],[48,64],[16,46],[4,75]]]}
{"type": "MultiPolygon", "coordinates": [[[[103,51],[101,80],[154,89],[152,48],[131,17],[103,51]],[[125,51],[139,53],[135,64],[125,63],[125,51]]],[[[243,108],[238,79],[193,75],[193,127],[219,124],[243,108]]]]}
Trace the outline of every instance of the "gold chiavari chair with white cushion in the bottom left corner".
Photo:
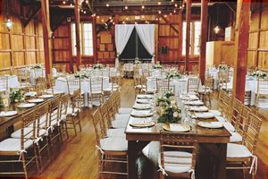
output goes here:
{"type": "Polygon", "coordinates": [[[40,172],[38,149],[35,142],[37,140],[36,136],[36,110],[31,110],[21,116],[21,138],[7,138],[4,141],[0,141],[1,178],[7,177],[8,175],[16,175],[16,177],[19,177],[19,175],[24,175],[24,177],[28,179],[29,176],[27,167],[32,162],[36,163],[37,171],[38,173],[40,172]],[[26,130],[25,128],[27,128],[29,125],[32,125],[33,127],[30,130],[26,130]],[[33,156],[29,155],[31,153],[33,153],[33,156]],[[22,166],[22,171],[13,171],[13,167],[10,165],[20,165],[20,167],[22,166]]]}

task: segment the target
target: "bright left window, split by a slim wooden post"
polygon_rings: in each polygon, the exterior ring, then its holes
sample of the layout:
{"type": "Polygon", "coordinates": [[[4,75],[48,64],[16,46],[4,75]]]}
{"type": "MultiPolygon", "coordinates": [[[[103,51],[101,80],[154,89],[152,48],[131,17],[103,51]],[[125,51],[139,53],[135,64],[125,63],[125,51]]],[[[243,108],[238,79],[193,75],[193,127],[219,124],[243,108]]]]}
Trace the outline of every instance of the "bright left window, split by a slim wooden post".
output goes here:
{"type": "MultiPolygon", "coordinates": [[[[92,23],[81,23],[80,34],[83,40],[80,40],[81,55],[93,55],[93,33],[92,23]]],[[[76,30],[75,23],[71,24],[71,49],[72,55],[76,55],[76,30]]]]}

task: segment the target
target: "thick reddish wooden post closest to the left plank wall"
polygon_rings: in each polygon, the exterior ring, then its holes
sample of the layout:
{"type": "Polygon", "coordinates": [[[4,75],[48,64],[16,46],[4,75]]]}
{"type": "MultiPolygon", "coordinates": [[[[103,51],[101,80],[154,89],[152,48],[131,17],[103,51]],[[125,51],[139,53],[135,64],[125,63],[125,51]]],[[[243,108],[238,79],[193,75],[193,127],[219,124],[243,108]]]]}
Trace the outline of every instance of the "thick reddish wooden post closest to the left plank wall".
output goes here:
{"type": "Polygon", "coordinates": [[[51,73],[52,68],[49,1],[41,0],[41,12],[42,12],[42,26],[43,26],[43,37],[44,37],[45,67],[47,77],[51,73]]]}

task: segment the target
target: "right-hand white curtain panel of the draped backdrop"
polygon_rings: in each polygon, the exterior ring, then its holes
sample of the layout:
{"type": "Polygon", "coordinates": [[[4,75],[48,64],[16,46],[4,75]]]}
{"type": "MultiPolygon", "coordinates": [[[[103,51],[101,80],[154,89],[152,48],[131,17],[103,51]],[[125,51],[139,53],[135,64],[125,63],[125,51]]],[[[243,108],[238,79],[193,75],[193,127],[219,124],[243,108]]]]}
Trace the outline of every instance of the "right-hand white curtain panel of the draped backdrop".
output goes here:
{"type": "Polygon", "coordinates": [[[138,37],[148,53],[152,55],[152,64],[155,64],[155,24],[136,24],[138,37]]]}

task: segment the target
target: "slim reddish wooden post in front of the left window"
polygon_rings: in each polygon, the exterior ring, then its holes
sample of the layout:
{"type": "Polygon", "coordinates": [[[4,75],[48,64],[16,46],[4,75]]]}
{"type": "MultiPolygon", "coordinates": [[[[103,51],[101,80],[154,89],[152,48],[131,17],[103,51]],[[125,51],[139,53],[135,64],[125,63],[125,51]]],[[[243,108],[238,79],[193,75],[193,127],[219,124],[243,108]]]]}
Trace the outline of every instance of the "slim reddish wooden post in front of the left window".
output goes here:
{"type": "Polygon", "coordinates": [[[81,64],[81,47],[80,47],[80,8],[79,0],[74,1],[74,13],[75,13],[75,35],[76,35],[76,65],[81,64]]]}

